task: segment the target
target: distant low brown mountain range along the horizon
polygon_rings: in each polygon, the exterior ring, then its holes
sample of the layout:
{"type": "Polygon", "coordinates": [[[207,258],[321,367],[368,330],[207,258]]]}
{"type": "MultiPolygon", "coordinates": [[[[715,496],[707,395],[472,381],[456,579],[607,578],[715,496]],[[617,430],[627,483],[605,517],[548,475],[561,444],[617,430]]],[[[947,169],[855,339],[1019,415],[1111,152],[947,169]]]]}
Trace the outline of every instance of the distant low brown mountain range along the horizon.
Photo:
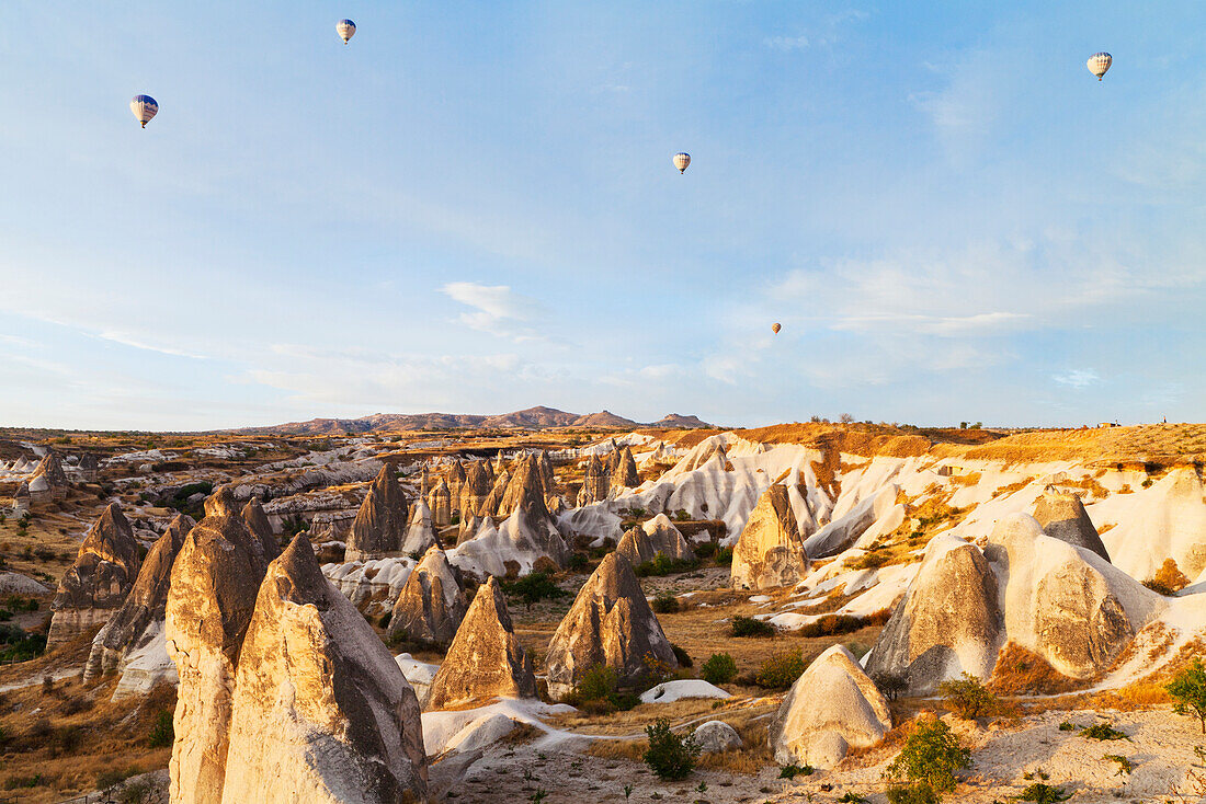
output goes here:
{"type": "Polygon", "coordinates": [[[698,416],[669,413],[656,422],[640,423],[611,411],[598,413],[567,413],[555,407],[538,405],[527,410],[497,416],[476,413],[373,413],[361,418],[311,418],[309,422],[288,422],[270,427],[244,427],[228,433],[248,435],[326,435],[332,433],[390,433],[398,430],[440,430],[468,428],[521,428],[543,429],[549,427],[597,427],[633,429],[637,427],[665,427],[672,429],[710,428],[698,416]]]}

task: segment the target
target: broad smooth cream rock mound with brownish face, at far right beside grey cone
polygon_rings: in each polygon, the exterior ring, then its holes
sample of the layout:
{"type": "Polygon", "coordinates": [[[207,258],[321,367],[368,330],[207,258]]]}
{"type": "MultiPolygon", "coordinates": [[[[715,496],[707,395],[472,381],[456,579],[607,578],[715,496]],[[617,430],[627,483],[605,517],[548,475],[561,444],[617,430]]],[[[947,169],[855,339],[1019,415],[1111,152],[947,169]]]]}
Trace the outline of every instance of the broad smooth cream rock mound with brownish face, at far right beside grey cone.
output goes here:
{"type": "Polygon", "coordinates": [[[985,553],[994,567],[1003,564],[997,571],[1009,641],[1073,679],[1106,670],[1164,606],[1138,581],[1090,550],[1046,535],[1025,513],[1001,518],[985,553]]]}

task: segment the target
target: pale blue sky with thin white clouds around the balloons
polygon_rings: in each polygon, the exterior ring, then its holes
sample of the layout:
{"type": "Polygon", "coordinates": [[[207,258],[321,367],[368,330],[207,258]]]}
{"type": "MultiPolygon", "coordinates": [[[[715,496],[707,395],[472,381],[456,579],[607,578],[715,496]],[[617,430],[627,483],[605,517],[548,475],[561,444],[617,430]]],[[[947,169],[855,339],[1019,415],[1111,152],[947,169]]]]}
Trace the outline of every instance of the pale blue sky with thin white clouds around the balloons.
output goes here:
{"type": "Polygon", "coordinates": [[[0,22],[0,424],[1206,411],[1201,2],[0,22]]]}

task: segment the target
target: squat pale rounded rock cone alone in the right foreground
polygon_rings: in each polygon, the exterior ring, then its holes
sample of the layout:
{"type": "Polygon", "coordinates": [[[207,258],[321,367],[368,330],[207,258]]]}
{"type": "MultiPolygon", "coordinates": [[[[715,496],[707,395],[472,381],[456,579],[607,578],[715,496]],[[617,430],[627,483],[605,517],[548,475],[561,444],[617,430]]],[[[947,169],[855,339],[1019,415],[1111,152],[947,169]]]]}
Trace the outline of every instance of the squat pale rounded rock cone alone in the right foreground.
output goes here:
{"type": "Polygon", "coordinates": [[[835,645],[791,685],[771,721],[771,749],[780,764],[832,768],[849,749],[866,749],[892,727],[876,683],[844,645],[835,645]]]}

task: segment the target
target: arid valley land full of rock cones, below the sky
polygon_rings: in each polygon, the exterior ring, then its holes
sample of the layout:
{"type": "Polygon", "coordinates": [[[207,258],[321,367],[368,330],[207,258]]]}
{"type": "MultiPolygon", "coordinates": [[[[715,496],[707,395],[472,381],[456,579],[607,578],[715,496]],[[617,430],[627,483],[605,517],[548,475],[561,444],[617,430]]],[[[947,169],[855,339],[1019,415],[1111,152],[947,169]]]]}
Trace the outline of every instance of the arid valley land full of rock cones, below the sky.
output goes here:
{"type": "Polygon", "coordinates": [[[0,430],[0,800],[1206,800],[1206,424],[633,424],[0,430]]]}

